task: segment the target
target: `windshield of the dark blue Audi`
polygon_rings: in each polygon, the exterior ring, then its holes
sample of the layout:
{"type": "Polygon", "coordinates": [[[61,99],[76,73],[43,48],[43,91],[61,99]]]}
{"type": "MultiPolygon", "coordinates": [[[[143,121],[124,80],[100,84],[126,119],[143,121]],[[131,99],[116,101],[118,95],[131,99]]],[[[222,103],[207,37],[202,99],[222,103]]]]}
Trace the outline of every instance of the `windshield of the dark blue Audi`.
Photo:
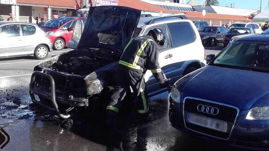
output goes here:
{"type": "Polygon", "coordinates": [[[260,41],[235,41],[210,64],[269,71],[269,44],[260,41]]]}

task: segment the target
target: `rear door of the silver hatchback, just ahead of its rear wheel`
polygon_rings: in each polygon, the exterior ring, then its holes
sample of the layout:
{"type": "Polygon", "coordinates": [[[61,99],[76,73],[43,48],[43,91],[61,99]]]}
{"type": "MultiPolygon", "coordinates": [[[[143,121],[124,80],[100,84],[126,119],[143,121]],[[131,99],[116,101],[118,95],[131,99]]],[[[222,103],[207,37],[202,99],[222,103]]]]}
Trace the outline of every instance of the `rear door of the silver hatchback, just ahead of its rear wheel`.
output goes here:
{"type": "Polygon", "coordinates": [[[38,37],[35,32],[36,28],[32,25],[24,25],[21,24],[21,30],[22,30],[22,41],[24,42],[24,49],[23,52],[25,53],[34,53],[36,45],[36,41],[38,37]]]}

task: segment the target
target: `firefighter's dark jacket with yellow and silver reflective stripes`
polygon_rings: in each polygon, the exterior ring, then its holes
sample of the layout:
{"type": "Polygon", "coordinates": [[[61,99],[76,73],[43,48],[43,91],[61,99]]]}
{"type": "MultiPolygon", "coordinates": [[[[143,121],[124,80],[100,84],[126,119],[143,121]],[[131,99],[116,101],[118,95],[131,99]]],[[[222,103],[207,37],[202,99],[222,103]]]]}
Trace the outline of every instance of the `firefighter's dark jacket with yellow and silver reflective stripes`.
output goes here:
{"type": "Polygon", "coordinates": [[[151,70],[154,77],[160,82],[164,82],[162,70],[158,62],[157,43],[151,36],[144,35],[132,38],[123,50],[120,57],[120,65],[130,70],[143,71],[151,70]]]}

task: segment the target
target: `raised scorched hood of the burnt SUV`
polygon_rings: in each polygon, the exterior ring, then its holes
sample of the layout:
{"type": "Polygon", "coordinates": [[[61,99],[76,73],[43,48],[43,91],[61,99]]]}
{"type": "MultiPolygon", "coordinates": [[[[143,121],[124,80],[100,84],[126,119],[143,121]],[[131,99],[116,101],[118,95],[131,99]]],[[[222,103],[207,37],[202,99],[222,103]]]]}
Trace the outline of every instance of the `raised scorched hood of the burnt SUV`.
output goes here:
{"type": "Polygon", "coordinates": [[[122,6],[90,7],[77,49],[104,48],[122,53],[131,40],[141,11],[122,6]]]}

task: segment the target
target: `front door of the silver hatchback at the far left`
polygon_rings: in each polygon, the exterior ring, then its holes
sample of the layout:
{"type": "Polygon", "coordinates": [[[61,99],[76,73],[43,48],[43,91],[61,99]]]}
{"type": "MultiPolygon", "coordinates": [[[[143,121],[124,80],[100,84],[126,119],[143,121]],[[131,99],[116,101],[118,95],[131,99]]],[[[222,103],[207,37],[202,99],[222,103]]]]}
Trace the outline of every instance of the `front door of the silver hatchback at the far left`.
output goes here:
{"type": "Polygon", "coordinates": [[[12,55],[10,53],[21,52],[24,49],[22,33],[19,24],[10,24],[0,27],[0,54],[1,56],[12,55]]]}

